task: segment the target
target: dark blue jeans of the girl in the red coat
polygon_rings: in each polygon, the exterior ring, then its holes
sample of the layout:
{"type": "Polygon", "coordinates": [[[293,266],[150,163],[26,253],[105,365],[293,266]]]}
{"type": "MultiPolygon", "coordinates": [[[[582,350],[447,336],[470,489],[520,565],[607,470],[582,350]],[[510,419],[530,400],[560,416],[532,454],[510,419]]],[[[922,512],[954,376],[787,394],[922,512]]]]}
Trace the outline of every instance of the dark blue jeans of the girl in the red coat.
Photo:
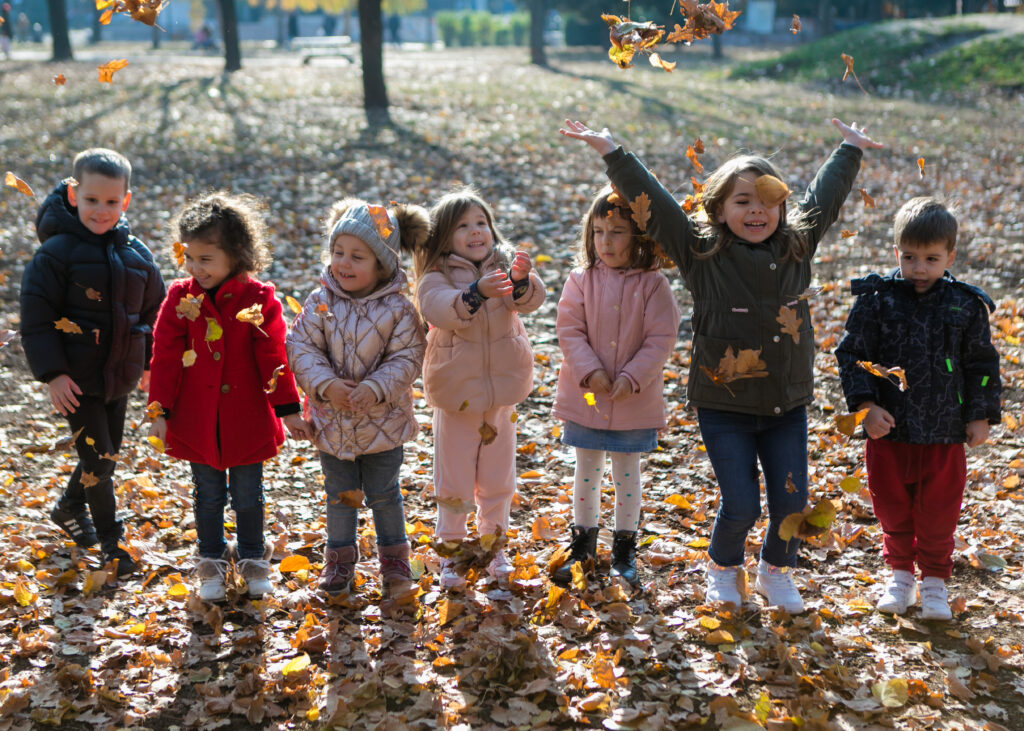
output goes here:
{"type": "Polygon", "coordinates": [[[191,463],[199,555],[224,553],[224,506],[231,494],[239,558],[263,558],[263,463],[218,470],[191,463]]]}

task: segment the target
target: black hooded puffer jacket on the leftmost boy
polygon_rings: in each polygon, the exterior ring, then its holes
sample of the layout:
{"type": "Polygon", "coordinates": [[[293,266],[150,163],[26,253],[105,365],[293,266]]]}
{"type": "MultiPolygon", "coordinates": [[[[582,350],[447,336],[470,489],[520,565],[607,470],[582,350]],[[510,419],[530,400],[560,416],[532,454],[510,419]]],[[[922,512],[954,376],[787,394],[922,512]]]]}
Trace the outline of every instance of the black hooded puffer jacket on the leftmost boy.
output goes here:
{"type": "Polygon", "coordinates": [[[40,381],[67,374],[85,395],[113,400],[148,368],[164,281],[124,216],[96,235],[67,191],[57,185],[36,216],[41,246],[22,277],[22,343],[40,381]],[[62,317],[82,332],[57,330],[62,317]]]}

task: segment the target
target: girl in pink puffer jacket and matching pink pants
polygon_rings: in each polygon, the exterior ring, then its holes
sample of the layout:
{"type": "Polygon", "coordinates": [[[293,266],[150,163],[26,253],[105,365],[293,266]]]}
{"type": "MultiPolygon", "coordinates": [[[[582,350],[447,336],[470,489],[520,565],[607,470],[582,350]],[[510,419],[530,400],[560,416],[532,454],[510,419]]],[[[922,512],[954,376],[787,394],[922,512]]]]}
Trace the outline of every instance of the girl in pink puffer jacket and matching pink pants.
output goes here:
{"type": "MultiPolygon", "coordinates": [[[[423,386],[434,407],[436,534],[462,541],[474,507],[481,535],[508,529],[513,413],[534,388],[534,350],[519,313],[540,307],[546,293],[529,255],[504,243],[490,208],[472,190],[444,196],[430,219],[430,238],[416,254],[416,298],[430,325],[423,386]]],[[[487,572],[508,578],[504,552],[487,572]]],[[[442,560],[442,587],[464,580],[442,560]]]]}

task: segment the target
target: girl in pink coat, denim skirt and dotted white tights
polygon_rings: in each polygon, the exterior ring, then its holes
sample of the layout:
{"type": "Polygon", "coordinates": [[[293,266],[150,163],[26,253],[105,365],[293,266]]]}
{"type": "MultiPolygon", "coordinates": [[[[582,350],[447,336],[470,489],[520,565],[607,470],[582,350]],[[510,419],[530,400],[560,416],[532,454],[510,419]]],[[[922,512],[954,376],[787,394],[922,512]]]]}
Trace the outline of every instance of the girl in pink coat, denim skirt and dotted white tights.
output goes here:
{"type": "Polygon", "coordinates": [[[562,367],[554,415],[562,442],[575,447],[569,556],[553,578],[568,584],[578,561],[595,558],[605,453],[615,483],[611,576],[637,586],[640,455],[665,426],[663,368],[679,329],[679,308],[655,245],[627,203],[605,188],[583,219],[579,268],[558,301],[562,367]]]}

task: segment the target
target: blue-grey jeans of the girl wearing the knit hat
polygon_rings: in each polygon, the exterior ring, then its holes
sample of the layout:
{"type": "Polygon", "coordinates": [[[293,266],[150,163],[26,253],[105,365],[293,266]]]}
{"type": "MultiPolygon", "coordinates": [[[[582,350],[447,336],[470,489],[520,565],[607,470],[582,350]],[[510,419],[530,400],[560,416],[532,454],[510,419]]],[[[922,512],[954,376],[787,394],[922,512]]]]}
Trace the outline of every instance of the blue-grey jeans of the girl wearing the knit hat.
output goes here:
{"type": "Polygon", "coordinates": [[[354,460],[339,460],[321,451],[324,489],[327,491],[327,545],[341,548],[355,545],[358,509],[342,505],[339,494],[361,489],[364,504],[374,513],[378,546],[406,543],[406,511],[398,488],[398,472],[403,461],[402,447],[361,455],[354,460]]]}

